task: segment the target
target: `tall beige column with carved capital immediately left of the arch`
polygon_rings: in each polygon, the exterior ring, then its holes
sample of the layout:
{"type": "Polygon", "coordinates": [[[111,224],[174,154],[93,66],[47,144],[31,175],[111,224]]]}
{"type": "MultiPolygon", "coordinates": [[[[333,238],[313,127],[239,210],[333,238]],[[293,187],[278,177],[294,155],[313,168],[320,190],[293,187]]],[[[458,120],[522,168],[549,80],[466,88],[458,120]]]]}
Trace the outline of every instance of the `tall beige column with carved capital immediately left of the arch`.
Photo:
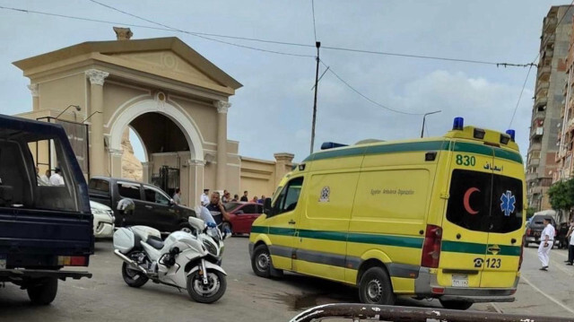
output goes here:
{"type": "MultiPolygon", "coordinates": [[[[104,79],[109,73],[97,69],[90,69],[85,72],[90,79],[90,107],[87,115],[90,116],[90,175],[105,176],[106,163],[108,158],[105,157],[104,148],[104,79]],[[95,113],[95,114],[93,114],[95,113]],[[93,114],[93,115],[92,115],[93,114]]],[[[117,157],[117,156],[116,156],[117,157]]],[[[119,173],[121,176],[121,156],[119,157],[119,173]]],[[[112,161],[113,164],[113,161],[112,161]]],[[[112,165],[112,171],[114,170],[112,165]]],[[[115,177],[115,175],[114,175],[115,177]]]]}

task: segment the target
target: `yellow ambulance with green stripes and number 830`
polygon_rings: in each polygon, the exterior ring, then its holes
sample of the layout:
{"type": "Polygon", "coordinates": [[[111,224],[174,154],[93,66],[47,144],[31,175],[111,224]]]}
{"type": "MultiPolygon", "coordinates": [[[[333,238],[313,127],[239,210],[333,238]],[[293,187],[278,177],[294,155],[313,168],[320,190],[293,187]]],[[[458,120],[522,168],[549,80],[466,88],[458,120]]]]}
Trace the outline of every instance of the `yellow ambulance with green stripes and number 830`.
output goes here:
{"type": "Polygon", "coordinates": [[[525,171],[514,131],[323,144],[283,178],[254,223],[254,272],[356,286],[364,303],[435,298],[448,309],[513,301],[525,171]]]}

